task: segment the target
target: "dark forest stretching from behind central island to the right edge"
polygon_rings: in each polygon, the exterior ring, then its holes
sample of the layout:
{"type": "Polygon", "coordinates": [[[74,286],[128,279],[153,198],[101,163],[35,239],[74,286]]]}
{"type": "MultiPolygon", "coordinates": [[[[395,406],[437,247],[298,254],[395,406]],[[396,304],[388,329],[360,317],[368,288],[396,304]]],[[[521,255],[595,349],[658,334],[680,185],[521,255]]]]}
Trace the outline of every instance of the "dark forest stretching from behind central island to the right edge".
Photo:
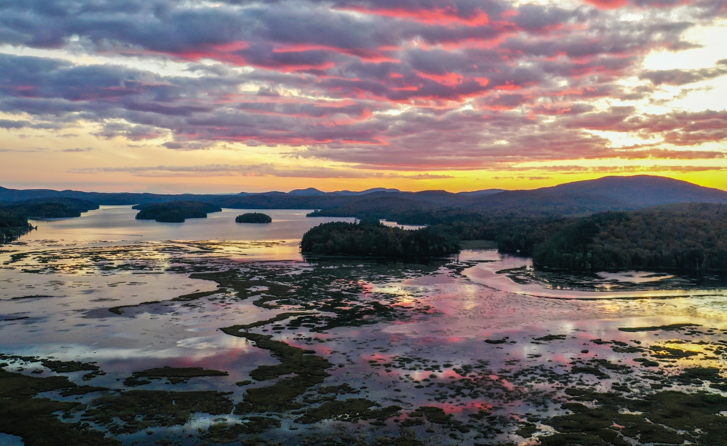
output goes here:
{"type": "Polygon", "coordinates": [[[432,225],[461,240],[497,241],[500,252],[531,255],[542,268],[727,270],[727,205],[683,203],[580,218],[459,209],[392,209],[374,216],[432,225]]]}

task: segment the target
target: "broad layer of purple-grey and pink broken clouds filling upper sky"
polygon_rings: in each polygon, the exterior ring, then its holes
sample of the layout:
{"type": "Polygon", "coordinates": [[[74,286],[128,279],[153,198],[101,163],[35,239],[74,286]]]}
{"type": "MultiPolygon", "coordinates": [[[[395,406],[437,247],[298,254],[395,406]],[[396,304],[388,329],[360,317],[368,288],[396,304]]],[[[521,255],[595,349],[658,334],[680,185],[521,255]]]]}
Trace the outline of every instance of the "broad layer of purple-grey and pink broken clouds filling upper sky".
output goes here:
{"type": "Polygon", "coordinates": [[[0,128],[63,136],[93,123],[100,139],[157,140],[146,144],[170,150],[292,146],[286,156],[358,166],[228,167],[220,175],[369,178],[356,175],[533,160],[716,160],[722,152],[698,146],[727,140],[724,110],[655,115],[601,104],[658,101],[659,86],[725,75],[727,59],[698,70],[642,67],[654,51],[696,47],[686,32],[726,16],[718,0],[7,0],[0,43],[116,63],[0,54],[0,112],[17,117],[0,128]],[[129,56],[188,70],[153,73],[130,66],[129,56]],[[649,145],[619,148],[599,132],[649,145]]]}

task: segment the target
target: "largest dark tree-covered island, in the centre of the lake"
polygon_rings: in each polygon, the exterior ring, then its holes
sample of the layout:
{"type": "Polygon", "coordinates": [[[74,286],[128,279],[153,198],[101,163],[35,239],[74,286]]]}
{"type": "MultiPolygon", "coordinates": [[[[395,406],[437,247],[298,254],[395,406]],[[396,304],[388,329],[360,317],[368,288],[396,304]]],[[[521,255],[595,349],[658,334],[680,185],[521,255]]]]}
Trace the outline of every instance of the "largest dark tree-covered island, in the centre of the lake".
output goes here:
{"type": "Polygon", "coordinates": [[[459,240],[438,228],[416,231],[384,226],[378,220],[331,222],[310,228],[300,241],[307,254],[375,257],[436,257],[459,252],[459,240]]]}

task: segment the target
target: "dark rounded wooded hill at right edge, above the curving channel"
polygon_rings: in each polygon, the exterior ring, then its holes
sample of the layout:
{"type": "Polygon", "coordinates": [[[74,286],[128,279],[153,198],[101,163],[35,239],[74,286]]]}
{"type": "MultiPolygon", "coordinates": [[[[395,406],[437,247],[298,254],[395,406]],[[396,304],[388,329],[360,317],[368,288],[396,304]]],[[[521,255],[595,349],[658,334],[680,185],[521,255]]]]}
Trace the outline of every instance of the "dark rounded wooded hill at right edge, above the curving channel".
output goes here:
{"type": "Polygon", "coordinates": [[[727,270],[727,205],[685,203],[579,218],[534,246],[543,268],[727,270]]]}

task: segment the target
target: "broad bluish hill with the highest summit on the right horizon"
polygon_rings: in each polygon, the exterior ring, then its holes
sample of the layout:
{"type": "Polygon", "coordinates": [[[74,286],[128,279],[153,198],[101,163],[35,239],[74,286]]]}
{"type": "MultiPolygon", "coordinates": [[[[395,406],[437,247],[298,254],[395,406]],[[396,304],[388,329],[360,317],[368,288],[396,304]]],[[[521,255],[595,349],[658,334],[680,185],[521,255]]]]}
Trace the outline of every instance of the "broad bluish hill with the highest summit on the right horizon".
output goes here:
{"type": "MultiPolygon", "coordinates": [[[[578,217],[678,202],[727,203],[727,191],[651,175],[604,177],[527,191],[465,195],[439,191],[385,194],[321,207],[311,216],[385,218],[403,224],[437,224],[444,214],[480,213],[519,218],[578,217]]],[[[464,221],[464,220],[462,220],[464,221]]],[[[472,218],[467,218],[471,222],[472,218]]]]}

